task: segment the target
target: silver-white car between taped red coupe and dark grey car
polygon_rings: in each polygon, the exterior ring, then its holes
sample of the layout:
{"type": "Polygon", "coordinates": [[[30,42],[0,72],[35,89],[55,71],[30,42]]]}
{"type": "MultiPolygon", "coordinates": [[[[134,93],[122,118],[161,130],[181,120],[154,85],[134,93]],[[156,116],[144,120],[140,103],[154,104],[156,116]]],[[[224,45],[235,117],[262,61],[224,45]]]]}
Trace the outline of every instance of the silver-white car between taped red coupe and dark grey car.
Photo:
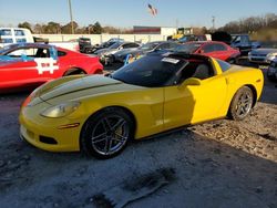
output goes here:
{"type": "Polygon", "coordinates": [[[100,61],[107,65],[114,62],[114,55],[116,52],[124,49],[136,49],[140,44],[135,42],[116,42],[106,49],[101,49],[95,52],[95,54],[100,58],[100,61]]]}

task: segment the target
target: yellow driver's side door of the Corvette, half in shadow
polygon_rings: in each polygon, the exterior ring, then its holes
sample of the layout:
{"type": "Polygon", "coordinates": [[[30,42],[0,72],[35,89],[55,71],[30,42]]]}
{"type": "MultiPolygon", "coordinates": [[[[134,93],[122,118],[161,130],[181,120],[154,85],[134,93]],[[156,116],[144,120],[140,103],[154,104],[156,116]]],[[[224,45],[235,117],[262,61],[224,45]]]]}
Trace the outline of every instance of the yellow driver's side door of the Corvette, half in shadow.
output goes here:
{"type": "Polygon", "coordinates": [[[225,79],[189,80],[193,82],[164,89],[164,129],[224,116],[220,110],[227,93],[225,79]]]}

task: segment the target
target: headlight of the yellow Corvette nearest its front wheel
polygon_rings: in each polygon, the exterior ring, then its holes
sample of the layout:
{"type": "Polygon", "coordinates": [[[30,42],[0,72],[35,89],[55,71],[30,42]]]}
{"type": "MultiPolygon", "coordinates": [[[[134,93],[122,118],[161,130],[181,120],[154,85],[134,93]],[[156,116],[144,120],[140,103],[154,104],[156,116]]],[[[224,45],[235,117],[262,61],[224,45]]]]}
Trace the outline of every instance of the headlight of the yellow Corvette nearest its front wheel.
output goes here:
{"type": "Polygon", "coordinates": [[[62,103],[43,110],[41,115],[44,117],[63,117],[76,111],[80,104],[79,102],[62,103]]]}

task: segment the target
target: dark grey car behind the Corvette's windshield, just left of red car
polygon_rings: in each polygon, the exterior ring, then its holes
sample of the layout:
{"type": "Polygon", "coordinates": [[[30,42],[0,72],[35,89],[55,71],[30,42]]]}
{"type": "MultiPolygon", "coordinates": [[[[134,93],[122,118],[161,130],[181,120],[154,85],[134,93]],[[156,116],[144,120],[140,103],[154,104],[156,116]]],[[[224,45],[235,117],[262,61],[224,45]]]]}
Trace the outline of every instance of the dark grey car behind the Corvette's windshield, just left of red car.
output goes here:
{"type": "Polygon", "coordinates": [[[154,41],[145,43],[132,51],[122,51],[114,54],[114,60],[124,62],[127,55],[141,56],[153,51],[174,51],[179,44],[172,41],[154,41]]]}

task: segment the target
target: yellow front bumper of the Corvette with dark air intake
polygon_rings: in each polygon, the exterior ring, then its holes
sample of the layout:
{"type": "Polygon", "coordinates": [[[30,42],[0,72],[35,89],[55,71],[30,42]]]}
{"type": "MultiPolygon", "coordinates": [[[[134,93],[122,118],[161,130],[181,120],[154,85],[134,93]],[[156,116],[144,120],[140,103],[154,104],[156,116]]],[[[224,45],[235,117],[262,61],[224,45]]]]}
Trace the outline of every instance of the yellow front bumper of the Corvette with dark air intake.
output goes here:
{"type": "Polygon", "coordinates": [[[47,118],[39,114],[41,107],[23,107],[21,110],[20,136],[31,145],[50,152],[75,152],[80,150],[80,121],[63,118],[47,118]],[[61,126],[79,123],[80,125],[71,128],[61,126]]]}

